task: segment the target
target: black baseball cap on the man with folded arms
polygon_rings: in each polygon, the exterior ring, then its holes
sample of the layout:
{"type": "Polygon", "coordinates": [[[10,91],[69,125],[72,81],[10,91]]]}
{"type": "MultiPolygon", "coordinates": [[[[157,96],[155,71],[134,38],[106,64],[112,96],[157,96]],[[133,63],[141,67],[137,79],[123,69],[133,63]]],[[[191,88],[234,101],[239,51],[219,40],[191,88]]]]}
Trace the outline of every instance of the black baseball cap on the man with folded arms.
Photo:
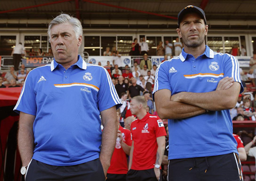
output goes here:
{"type": "Polygon", "coordinates": [[[180,22],[181,22],[182,18],[184,17],[184,15],[187,14],[187,13],[197,13],[197,14],[199,14],[204,19],[205,25],[207,25],[204,10],[199,8],[199,7],[193,6],[193,5],[189,5],[185,8],[183,8],[180,11],[180,13],[178,14],[178,28],[180,28],[180,22]]]}

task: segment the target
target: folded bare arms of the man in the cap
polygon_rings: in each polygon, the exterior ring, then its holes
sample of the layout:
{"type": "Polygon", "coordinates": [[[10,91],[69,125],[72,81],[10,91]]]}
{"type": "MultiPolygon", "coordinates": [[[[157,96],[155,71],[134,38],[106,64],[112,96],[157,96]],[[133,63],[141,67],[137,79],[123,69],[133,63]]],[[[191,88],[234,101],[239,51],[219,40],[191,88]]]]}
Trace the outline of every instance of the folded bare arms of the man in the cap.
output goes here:
{"type": "Polygon", "coordinates": [[[206,110],[227,110],[236,105],[240,86],[232,77],[225,77],[212,92],[171,95],[168,89],[158,90],[154,95],[157,113],[161,119],[182,119],[203,114],[206,110]]]}

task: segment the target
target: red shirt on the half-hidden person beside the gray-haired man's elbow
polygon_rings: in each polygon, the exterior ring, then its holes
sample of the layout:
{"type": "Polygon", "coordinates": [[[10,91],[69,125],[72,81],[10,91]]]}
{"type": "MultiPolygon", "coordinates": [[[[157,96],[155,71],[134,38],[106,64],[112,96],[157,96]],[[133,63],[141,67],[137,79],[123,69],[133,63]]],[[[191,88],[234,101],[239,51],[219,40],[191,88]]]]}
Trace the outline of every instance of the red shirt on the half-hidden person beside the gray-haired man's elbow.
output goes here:
{"type": "MultiPolygon", "coordinates": [[[[128,146],[132,146],[131,131],[119,126],[119,130],[122,132],[123,142],[128,146]]],[[[114,148],[114,152],[111,158],[108,174],[127,174],[127,158],[122,147],[120,149],[114,148]]]]}

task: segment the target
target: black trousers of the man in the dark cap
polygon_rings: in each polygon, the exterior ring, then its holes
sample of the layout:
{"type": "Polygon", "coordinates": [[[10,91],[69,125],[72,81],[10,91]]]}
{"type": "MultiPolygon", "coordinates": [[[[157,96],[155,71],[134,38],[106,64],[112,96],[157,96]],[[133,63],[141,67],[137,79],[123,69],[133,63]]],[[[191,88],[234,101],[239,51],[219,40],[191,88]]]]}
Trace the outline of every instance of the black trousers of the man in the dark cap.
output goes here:
{"type": "Polygon", "coordinates": [[[169,160],[169,181],[241,181],[241,162],[236,153],[169,160]]]}

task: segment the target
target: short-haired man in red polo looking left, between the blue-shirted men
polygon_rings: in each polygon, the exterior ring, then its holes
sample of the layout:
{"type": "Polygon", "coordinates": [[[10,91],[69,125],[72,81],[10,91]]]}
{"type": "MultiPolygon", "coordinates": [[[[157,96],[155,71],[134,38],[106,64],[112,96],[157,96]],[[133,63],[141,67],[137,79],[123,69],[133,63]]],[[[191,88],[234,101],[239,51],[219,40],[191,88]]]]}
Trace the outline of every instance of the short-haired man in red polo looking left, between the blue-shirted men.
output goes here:
{"type": "Polygon", "coordinates": [[[132,147],[126,180],[162,180],[160,165],[165,151],[166,131],[158,116],[146,112],[143,96],[134,96],[131,112],[137,116],[132,122],[132,147]]]}

